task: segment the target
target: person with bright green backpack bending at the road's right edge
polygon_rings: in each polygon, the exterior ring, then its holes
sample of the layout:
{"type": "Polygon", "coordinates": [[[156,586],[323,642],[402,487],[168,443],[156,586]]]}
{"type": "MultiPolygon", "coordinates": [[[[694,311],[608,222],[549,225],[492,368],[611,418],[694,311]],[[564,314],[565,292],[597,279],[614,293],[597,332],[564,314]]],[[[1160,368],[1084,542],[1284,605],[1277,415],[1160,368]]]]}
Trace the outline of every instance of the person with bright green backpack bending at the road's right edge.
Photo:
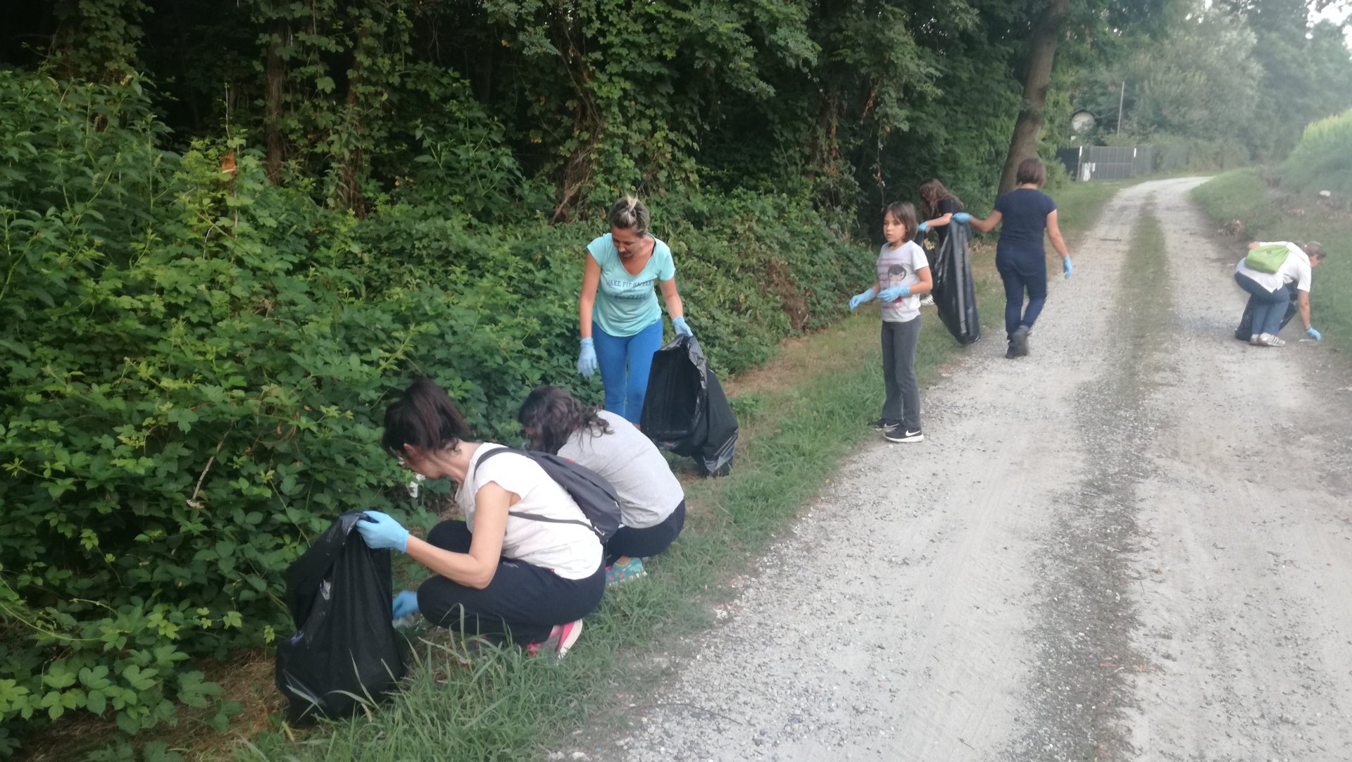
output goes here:
{"type": "Polygon", "coordinates": [[[1249,295],[1245,311],[1252,311],[1249,343],[1260,347],[1279,347],[1282,318],[1291,301],[1291,288],[1297,290],[1301,322],[1314,340],[1324,336],[1310,324],[1310,280],[1314,268],[1324,262],[1324,247],[1315,242],[1293,243],[1276,240],[1252,242],[1249,253],[1234,266],[1234,282],[1249,295]]]}

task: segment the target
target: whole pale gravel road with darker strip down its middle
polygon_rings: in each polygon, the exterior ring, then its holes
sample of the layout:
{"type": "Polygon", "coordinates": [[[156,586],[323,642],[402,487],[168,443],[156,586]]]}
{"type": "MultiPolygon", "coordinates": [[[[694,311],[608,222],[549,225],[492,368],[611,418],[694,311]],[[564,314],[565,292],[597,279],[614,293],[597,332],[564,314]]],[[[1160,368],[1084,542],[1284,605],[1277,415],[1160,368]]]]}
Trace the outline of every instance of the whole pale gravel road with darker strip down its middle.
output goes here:
{"type": "Polygon", "coordinates": [[[1352,374],[1232,338],[1199,182],[1122,190],[1032,357],[925,390],[592,758],[1352,759],[1352,374]]]}

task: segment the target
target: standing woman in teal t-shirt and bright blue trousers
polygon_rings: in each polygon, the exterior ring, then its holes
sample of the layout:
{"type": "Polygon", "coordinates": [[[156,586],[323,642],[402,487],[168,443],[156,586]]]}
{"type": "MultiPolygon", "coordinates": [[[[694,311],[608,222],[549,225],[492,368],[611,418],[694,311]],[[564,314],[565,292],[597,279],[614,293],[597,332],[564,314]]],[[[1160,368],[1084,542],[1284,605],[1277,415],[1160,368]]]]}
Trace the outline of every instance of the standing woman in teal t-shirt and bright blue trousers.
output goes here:
{"type": "Polygon", "coordinates": [[[653,281],[662,286],[672,328],[683,336],[695,334],[685,324],[676,293],[672,250],[648,232],[648,208],[625,196],[606,219],[610,232],[587,245],[577,304],[583,334],[577,373],[591,376],[599,365],[606,409],[637,424],[644,413],[653,353],[662,346],[662,311],[653,281]]]}

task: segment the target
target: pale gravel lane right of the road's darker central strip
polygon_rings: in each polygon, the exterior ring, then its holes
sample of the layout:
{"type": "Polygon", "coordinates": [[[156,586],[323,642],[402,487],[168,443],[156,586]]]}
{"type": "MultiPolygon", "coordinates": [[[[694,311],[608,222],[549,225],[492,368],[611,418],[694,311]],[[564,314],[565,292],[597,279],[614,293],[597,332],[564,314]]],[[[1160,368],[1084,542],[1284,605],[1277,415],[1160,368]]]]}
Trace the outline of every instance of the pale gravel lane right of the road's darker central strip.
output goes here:
{"type": "MultiPolygon", "coordinates": [[[[1180,190],[1197,181],[1172,181],[1180,190]]],[[[1352,384],[1328,343],[1230,338],[1244,242],[1160,205],[1172,362],[1149,403],[1132,742],[1149,759],[1352,759],[1352,384]],[[1179,404],[1186,395],[1187,404],[1179,404]]],[[[1314,319],[1320,270],[1311,288],[1314,319]]]]}

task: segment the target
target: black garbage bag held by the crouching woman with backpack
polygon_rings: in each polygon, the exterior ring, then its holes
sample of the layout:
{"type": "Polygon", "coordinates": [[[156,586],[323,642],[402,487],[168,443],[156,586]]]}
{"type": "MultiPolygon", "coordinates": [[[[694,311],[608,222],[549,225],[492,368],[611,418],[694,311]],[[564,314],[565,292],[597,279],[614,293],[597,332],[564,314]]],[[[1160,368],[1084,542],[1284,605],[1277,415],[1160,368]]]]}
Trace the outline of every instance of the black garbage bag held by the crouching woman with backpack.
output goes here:
{"type": "Polygon", "coordinates": [[[357,532],[343,513],[287,569],[287,607],[296,634],[277,647],[277,690],[287,721],[347,717],[404,676],[391,621],[389,551],[357,532]]]}

